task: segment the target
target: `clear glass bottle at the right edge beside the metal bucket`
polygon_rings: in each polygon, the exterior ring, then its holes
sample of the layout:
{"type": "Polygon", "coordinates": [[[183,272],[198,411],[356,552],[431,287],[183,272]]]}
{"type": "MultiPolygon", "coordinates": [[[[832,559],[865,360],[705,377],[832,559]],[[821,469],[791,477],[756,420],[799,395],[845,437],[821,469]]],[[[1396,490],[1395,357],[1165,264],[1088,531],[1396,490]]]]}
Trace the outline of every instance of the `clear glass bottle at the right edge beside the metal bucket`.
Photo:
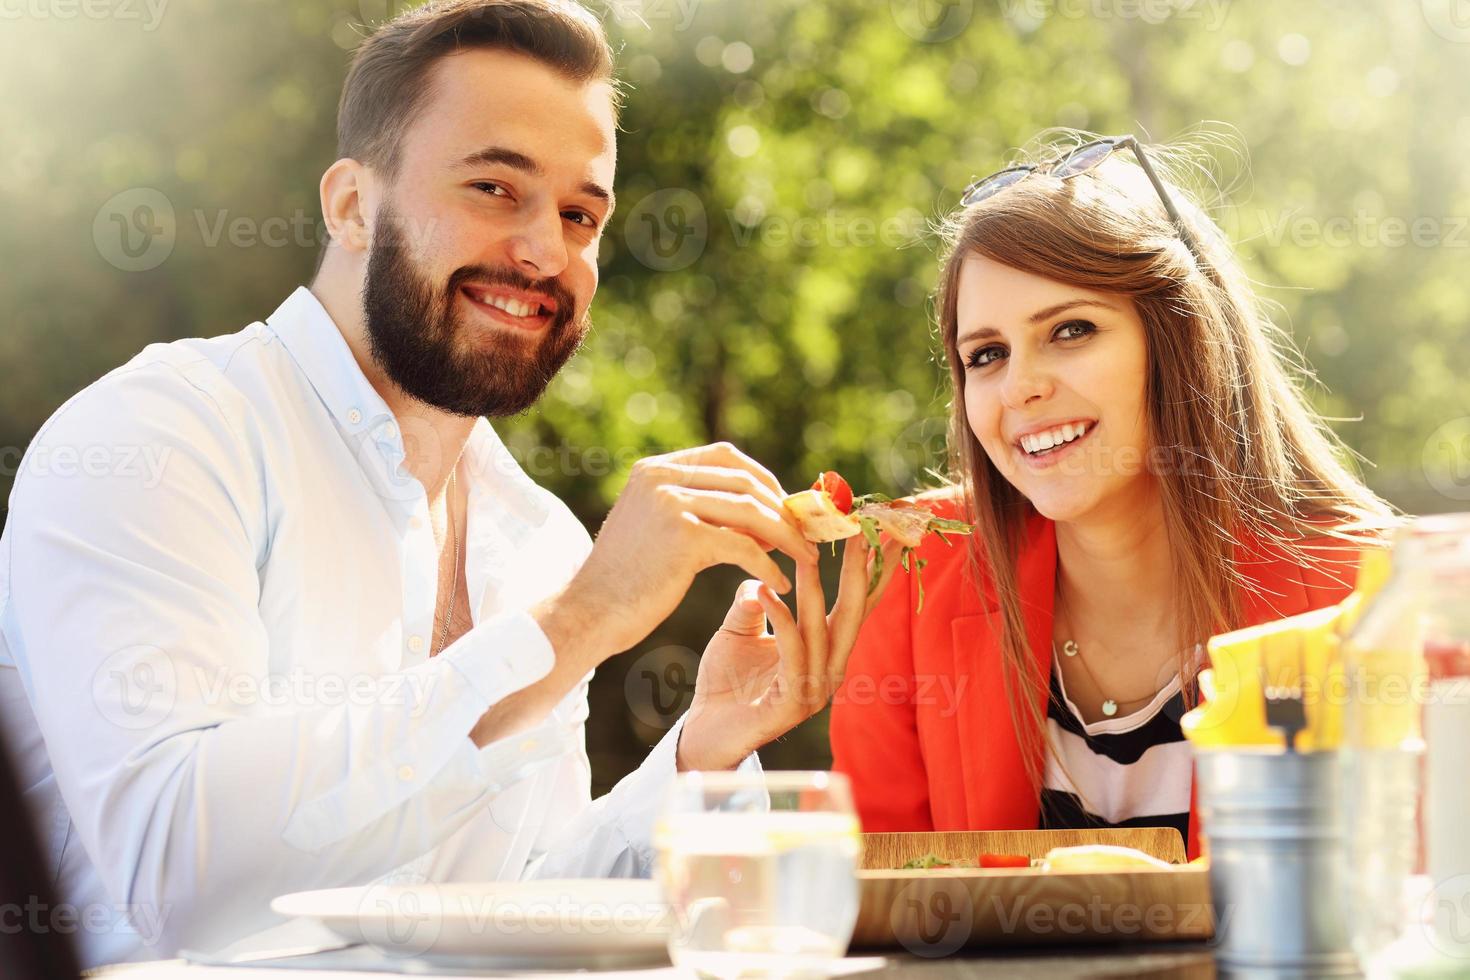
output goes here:
{"type": "Polygon", "coordinates": [[[1470,514],[1402,529],[1391,566],[1342,644],[1354,951],[1470,976],[1470,514]]]}

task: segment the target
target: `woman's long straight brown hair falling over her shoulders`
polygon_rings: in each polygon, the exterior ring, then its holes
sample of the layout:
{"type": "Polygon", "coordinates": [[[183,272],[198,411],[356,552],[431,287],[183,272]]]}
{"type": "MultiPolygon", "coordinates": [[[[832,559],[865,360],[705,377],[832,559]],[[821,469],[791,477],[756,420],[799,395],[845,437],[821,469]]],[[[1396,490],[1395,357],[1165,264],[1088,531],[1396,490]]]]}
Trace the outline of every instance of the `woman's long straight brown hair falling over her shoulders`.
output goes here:
{"type": "MultiPolygon", "coordinates": [[[[1091,134],[1053,131],[1022,157],[1055,159],[1091,134]]],[[[1145,147],[1172,173],[1188,147],[1145,147]]],[[[1164,178],[1167,181],[1167,178],[1164,178]]],[[[942,229],[938,317],[953,383],[950,466],[976,525],[983,569],[1000,604],[1007,698],[1032,780],[1045,763],[1045,676],[1022,619],[1016,555],[1029,502],[991,463],[964,414],[964,364],[956,316],[964,260],[994,262],[1075,287],[1129,297],[1148,347],[1150,469],[1158,478],[1179,583],[1180,670],[1186,651],[1242,624],[1247,577],[1238,547],[1310,566],[1308,536],[1377,541],[1392,508],[1349,469],[1349,453],[1311,408],[1301,359],[1264,311],[1230,242],[1194,200],[1167,181],[1201,257],[1183,244],[1158,194],[1129,153],[1060,181],[1029,175],[953,215],[942,229]]],[[[1186,680],[1192,680],[1186,677],[1186,680]]],[[[1194,699],[1186,683],[1186,698],[1194,699]]]]}

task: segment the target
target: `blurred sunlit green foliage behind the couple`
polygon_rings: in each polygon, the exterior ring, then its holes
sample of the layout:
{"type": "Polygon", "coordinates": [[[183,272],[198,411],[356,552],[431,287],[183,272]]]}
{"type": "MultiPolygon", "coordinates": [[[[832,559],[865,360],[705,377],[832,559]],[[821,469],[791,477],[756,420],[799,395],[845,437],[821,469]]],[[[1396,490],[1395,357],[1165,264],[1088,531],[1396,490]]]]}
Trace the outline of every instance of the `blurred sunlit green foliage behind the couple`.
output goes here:
{"type": "MultiPolygon", "coordinates": [[[[4,494],[78,388],[148,342],[262,319],[310,278],[350,50],[401,9],[153,3],[26,0],[0,21],[4,494]],[[132,188],[168,198],[176,235],[141,272],[98,244],[98,212],[132,188]],[[279,237],[253,241],[268,219],[279,237]]],[[[498,428],[592,529],[634,458],[717,438],[788,486],[839,469],[907,489],[942,451],[928,229],[958,190],[1047,126],[1169,140],[1214,120],[1247,151],[1213,141],[1214,213],[1316,369],[1319,406],[1357,419],[1339,432],[1394,502],[1464,508],[1470,32],[1449,7],[595,6],[631,87],[595,332],[535,411],[498,428]],[[670,269],[650,245],[675,241],[694,257],[670,269]]],[[[735,580],[704,576],[598,673],[600,788],[659,735],[638,692],[678,693],[670,664],[703,648],[735,580]]],[[[763,758],[826,765],[825,717],[763,758]]]]}

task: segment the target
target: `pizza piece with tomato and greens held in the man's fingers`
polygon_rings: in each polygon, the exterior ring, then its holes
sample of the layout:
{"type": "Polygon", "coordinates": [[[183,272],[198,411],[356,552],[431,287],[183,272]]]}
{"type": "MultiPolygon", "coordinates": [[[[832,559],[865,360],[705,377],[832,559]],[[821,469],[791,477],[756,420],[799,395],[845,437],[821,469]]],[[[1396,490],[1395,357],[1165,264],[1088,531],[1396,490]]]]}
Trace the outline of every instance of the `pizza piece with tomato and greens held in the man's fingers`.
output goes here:
{"type": "MultiPolygon", "coordinates": [[[[817,476],[810,489],[791,494],[782,501],[786,511],[797,520],[801,533],[807,541],[823,544],[828,541],[842,541],[854,535],[863,535],[873,547],[873,572],[867,582],[867,591],[878,588],[883,576],[883,552],[879,550],[878,533],[883,532],[903,545],[900,561],[904,570],[908,569],[914,548],[925,535],[939,535],[948,544],[945,535],[967,535],[972,526],[963,520],[939,517],[923,507],[895,501],[882,494],[864,494],[853,497],[853,488],[847,480],[832,472],[817,476]]],[[[923,570],[925,561],[914,561],[914,577],[923,570]]],[[[923,608],[923,580],[919,580],[919,608],[923,608]]]]}

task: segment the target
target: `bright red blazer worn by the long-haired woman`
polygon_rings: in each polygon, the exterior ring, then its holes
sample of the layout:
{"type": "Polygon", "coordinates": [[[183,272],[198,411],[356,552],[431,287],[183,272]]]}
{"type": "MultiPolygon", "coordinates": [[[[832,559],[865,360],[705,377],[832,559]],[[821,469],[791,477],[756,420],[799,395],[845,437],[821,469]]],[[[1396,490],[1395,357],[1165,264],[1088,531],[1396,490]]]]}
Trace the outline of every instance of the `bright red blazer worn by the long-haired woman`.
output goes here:
{"type": "MultiPolygon", "coordinates": [[[[933,507],[960,516],[957,502],[933,507]]],[[[923,610],[910,573],[900,570],[873,610],[832,704],[832,768],[853,783],[866,832],[1028,830],[1041,815],[1022,761],[1001,673],[1000,607],[988,574],[976,585],[963,541],[936,536],[920,547],[923,610]],[[995,616],[994,623],[986,613],[995,616]]],[[[1245,623],[1266,623],[1344,599],[1357,579],[1357,551],[1326,539],[1322,561],[1302,569],[1261,551],[1238,552],[1252,583],[1245,623]]],[[[1051,671],[1051,604],[1057,536],[1032,514],[1017,582],[1032,667],[1042,692],[1051,671]]],[[[1191,807],[1186,851],[1198,857],[1191,807]]]]}

